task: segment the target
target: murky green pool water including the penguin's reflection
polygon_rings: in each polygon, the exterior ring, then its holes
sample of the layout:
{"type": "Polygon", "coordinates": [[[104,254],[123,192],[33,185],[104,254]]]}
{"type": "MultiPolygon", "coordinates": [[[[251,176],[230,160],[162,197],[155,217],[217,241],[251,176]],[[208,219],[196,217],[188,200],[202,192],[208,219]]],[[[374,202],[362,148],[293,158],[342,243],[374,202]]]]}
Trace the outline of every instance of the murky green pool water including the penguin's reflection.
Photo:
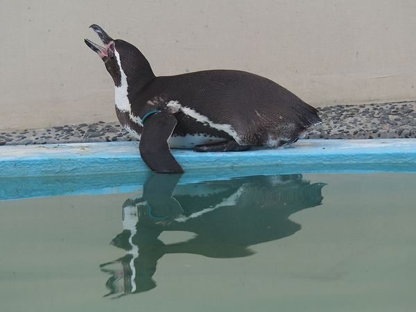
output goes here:
{"type": "Polygon", "coordinates": [[[414,311],[416,174],[162,177],[0,202],[0,311],[414,311]]]}

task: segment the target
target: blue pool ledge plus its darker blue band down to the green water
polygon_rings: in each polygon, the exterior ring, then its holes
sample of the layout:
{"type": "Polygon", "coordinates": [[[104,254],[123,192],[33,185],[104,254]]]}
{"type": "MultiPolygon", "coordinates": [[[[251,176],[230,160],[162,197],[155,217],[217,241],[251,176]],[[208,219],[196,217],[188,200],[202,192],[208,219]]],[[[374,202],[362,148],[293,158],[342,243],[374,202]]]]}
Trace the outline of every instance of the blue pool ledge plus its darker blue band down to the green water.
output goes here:
{"type": "MultiPolygon", "coordinates": [[[[137,142],[0,147],[0,200],[137,192],[150,171],[137,142]]],[[[416,139],[302,140],[240,153],[175,150],[180,184],[248,175],[416,172],[416,139]]]]}

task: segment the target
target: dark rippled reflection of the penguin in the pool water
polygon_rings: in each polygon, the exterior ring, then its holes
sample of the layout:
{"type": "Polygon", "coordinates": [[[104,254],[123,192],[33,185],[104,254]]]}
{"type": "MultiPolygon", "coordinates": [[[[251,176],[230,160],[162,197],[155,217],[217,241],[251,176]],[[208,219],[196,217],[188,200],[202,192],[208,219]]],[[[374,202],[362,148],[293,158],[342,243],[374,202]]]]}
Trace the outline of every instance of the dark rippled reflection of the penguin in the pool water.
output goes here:
{"type": "Polygon", "coordinates": [[[164,254],[247,257],[254,253],[251,245],[294,234],[301,226],[289,216],[321,205],[325,185],[311,184],[302,175],[261,175],[176,186],[179,179],[180,175],[150,175],[143,192],[125,200],[124,230],[111,243],[126,254],[100,266],[110,274],[107,296],[155,288],[152,277],[164,254]],[[159,240],[164,231],[196,236],[165,244],[159,240]]]}

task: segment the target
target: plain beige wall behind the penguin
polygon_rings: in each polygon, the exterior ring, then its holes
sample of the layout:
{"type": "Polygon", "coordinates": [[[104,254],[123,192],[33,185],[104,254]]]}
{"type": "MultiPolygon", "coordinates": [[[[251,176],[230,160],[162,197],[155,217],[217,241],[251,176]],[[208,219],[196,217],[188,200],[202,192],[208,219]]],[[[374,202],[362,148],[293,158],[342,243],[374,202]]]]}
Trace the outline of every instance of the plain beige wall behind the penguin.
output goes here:
{"type": "Polygon", "coordinates": [[[416,98],[415,0],[1,0],[0,128],[113,121],[88,26],[135,44],[157,75],[242,69],[312,105],[416,98]]]}

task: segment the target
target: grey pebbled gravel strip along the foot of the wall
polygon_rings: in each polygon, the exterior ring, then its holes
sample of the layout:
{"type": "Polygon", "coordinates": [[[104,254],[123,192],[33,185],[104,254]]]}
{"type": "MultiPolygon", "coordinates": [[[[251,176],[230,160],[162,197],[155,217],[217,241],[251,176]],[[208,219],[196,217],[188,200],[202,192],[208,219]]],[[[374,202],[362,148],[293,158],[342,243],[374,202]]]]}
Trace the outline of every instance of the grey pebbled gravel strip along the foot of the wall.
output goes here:
{"type": "MultiPolygon", "coordinates": [[[[307,139],[416,138],[416,102],[335,105],[319,108],[322,124],[307,139]]],[[[34,130],[0,130],[1,145],[132,141],[117,123],[80,123],[34,130]]]]}

